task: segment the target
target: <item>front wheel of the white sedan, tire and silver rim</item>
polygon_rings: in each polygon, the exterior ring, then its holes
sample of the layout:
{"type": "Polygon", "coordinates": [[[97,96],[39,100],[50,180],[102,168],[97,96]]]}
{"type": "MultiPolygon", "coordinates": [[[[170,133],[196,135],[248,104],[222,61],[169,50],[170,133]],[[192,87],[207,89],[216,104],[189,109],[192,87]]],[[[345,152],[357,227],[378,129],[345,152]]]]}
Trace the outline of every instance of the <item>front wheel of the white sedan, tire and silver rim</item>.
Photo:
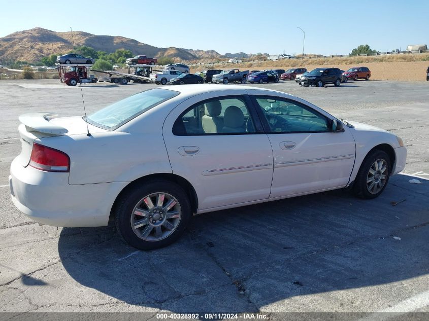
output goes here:
{"type": "Polygon", "coordinates": [[[354,180],[354,194],[364,199],[379,196],[389,181],[390,161],[386,152],[374,150],[369,153],[360,165],[354,180]]]}

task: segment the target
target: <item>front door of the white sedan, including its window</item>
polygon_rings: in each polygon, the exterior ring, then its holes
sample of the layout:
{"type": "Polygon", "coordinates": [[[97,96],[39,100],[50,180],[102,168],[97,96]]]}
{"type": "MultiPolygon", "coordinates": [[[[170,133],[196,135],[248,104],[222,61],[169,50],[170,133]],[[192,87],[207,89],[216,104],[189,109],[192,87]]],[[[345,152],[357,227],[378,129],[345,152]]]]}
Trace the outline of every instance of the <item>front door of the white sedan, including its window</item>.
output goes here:
{"type": "Polygon", "coordinates": [[[345,187],[354,165],[348,128],[330,131],[330,120],[302,103],[254,96],[273,148],[270,198],[345,187]]]}

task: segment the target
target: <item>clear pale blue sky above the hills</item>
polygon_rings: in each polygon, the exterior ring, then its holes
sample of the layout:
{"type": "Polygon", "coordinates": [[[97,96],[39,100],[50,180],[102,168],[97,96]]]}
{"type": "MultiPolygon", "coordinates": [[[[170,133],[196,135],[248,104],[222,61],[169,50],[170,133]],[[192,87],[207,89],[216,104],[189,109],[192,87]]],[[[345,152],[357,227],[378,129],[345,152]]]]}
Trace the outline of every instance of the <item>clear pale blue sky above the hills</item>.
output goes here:
{"type": "Polygon", "coordinates": [[[293,54],[302,52],[300,26],[306,32],[305,53],[347,54],[360,44],[379,51],[429,45],[426,0],[15,0],[2,1],[0,11],[0,37],[34,27],[69,31],[72,26],[156,47],[293,54]],[[147,22],[139,23],[146,15],[147,22]]]}

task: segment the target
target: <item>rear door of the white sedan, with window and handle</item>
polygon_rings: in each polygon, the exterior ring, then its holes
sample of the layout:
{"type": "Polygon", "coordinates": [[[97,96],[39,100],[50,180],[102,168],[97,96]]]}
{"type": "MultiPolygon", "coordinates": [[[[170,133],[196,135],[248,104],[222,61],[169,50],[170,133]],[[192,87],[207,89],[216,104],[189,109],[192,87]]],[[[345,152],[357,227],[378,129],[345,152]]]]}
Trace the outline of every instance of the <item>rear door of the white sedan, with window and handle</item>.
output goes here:
{"type": "Polygon", "coordinates": [[[207,103],[213,99],[206,99],[215,95],[206,93],[192,97],[179,104],[166,119],[162,132],[173,173],[184,177],[194,187],[199,210],[267,199],[273,175],[273,153],[268,136],[256,133],[254,128],[258,127],[249,125],[249,116],[255,112],[248,110],[249,104],[241,96],[218,99],[221,110],[209,112],[207,103]],[[239,116],[244,118],[227,119],[231,114],[227,112],[229,106],[235,106],[235,116],[241,111],[243,114],[239,116]],[[189,112],[189,108],[194,112],[189,112]],[[202,115],[202,111],[207,115],[202,115]],[[206,134],[203,116],[205,122],[210,121],[208,117],[218,118],[213,123],[222,124],[223,121],[224,127],[217,126],[217,133],[206,134]],[[235,132],[231,126],[237,126],[235,132]],[[227,130],[222,132],[219,128],[227,130]]]}

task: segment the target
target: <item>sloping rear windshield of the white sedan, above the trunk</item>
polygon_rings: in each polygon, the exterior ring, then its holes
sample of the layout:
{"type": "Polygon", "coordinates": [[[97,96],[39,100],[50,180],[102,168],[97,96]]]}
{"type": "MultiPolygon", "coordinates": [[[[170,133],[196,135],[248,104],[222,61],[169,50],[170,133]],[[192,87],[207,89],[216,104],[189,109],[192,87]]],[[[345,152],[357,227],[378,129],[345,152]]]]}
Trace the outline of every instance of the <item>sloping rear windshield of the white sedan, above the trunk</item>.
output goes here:
{"type": "Polygon", "coordinates": [[[177,91],[166,89],[143,91],[95,112],[87,117],[87,122],[97,127],[114,130],[178,94],[177,91]]]}

